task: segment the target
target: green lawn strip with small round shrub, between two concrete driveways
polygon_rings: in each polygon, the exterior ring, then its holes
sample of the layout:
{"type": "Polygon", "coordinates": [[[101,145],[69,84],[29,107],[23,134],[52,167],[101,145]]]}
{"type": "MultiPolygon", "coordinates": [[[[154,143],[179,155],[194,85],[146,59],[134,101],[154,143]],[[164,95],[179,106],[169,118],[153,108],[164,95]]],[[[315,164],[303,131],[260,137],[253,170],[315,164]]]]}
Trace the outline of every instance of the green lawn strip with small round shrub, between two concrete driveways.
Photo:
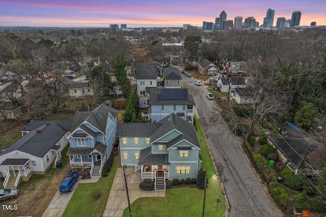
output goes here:
{"type": "Polygon", "coordinates": [[[120,158],[116,156],[112,169],[107,177],[101,177],[95,183],[78,184],[62,216],[102,216],[114,176],[119,167],[120,158]],[[92,199],[95,194],[100,195],[98,200],[92,199]]]}

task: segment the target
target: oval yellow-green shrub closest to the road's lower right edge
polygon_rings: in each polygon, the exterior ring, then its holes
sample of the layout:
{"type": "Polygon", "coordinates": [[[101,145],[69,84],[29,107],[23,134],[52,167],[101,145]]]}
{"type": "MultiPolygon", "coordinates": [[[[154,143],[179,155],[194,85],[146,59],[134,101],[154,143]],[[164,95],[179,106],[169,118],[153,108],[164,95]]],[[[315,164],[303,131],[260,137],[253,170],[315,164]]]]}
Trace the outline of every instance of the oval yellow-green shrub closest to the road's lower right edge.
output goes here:
{"type": "Polygon", "coordinates": [[[290,202],[290,198],[287,190],[282,186],[282,184],[275,181],[270,182],[269,190],[271,197],[274,198],[277,204],[286,209],[290,202]]]}

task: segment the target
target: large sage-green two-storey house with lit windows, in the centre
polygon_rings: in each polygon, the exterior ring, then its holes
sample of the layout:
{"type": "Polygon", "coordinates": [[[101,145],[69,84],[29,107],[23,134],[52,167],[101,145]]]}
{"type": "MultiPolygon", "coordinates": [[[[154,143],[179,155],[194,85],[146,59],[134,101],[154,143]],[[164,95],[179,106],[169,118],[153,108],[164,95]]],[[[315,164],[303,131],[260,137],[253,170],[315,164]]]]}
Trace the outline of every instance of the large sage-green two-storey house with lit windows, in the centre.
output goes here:
{"type": "Polygon", "coordinates": [[[195,127],[172,113],[155,123],[120,123],[121,165],[135,166],[141,179],[165,190],[167,179],[196,178],[201,150],[195,127]]]}

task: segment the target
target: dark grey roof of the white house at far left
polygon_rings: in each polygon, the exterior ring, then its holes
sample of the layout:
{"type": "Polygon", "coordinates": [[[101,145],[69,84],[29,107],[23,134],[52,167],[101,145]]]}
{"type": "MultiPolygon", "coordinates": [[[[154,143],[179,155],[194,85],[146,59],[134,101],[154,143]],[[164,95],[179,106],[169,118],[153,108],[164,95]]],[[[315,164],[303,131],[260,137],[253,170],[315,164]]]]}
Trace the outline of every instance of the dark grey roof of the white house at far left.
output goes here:
{"type": "MultiPolygon", "coordinates": [[[[72,121],[66,121],[65,128],[69,128],[69,122],[71,125],[72,121]]],[[[49,121],[49,125],[44,124],[36,128],[42,130],[41,133],[37,133],[36,129],[31,130],[28,134],[0,153],[0,156],[12,151],[21,151],[43,158],[49,150],[58,149],[59,146],[55,147],[57,142],[69,132],[69,130],[65,128],[56,121],[49,121]]]]}

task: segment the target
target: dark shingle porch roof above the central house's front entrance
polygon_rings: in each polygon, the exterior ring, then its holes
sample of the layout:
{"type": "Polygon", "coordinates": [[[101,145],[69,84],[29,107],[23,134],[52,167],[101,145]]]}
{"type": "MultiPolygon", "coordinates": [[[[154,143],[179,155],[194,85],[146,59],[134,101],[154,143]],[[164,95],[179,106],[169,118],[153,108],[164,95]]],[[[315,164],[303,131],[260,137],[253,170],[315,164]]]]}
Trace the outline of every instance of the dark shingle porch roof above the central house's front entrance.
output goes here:
{"type": "Polygon", "coordinates": [[[144,148],[139,154],[139,165],[169,165],[168,153],[152,153],[152,146],[144,148]]]}

